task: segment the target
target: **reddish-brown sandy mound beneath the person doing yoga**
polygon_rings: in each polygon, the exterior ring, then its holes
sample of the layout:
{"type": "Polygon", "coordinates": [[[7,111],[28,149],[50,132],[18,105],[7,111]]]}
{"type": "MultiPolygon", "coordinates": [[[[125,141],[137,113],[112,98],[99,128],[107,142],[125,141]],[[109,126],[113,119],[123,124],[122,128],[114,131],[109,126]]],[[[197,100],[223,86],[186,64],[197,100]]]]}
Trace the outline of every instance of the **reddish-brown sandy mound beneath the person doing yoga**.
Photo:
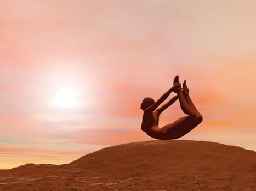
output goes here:
{"type": "Polygon", "coordinates": [[[107,147],[69,164],[0,170],[0,190],[256,190],[256,152],[207,141],[107,147]]]}

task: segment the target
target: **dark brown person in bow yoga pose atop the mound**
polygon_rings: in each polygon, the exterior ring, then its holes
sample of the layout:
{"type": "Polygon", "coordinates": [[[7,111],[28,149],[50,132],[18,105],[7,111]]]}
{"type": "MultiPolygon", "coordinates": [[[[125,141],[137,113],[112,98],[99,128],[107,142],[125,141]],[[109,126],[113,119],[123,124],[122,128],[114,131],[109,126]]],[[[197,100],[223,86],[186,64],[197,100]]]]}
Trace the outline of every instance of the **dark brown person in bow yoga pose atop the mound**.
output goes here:
{"type": "Polygon", "coordinates": [[[178,139],[181,136],[189,133],[203,120],[200,112],[197,111],[195,105],[189,96],[189,89],[186,86],[186,80],[184,80],[183,88],[179,83],[179,76],[174,78],[173,87],[170,88],[163,96],[156,102],[152,98],[144,98],[141,103],[140,109],[144,111],[143,121],[141,124],[141,130],[147,133],[155,139],[178,139]],[[177,93],[177,96],[173,97],[166,104],[157,107],[169,96],[171,92],[177,93]],[[158,127],[159,115],[168,106],[172,105],[177,99],[179,99],[181,109],[187,116],[181,117],[173,123],[167,124],[162,128],[158,127]]]}

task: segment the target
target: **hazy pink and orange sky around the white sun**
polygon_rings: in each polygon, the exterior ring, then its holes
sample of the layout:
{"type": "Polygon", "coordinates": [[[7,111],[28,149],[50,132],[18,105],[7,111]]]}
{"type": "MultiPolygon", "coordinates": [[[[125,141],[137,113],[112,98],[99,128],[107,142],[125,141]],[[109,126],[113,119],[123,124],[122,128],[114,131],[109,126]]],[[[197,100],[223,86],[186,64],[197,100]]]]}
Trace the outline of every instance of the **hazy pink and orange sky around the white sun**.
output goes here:
{"type": "MultiPolygon", "coordinates": [[[[160,98],[176,75],[203,116],[181,140],[256,151],[255,7],[249,0],[0,0],[0,169],[70,163],[153,140],[140,129],[140,103],[160,98]],[[63,88],[75,92],[70,108],[54,102],[63,88]]],[[[177,101],[160,127],[183,116],[177,101]]]]}

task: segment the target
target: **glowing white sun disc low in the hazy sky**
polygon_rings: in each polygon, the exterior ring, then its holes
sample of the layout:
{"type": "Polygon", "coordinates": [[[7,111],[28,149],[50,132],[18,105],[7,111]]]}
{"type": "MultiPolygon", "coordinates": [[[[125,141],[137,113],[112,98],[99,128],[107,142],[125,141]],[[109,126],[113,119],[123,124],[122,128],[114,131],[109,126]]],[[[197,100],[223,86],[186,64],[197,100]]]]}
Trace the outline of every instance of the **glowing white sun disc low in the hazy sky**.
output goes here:
{"type": "Polygon", "coordinates": [[[60,89],[55,95],[55,104],[60,108],[70,108],[75,105],[75,92],[71,89],[60,89]]]}

